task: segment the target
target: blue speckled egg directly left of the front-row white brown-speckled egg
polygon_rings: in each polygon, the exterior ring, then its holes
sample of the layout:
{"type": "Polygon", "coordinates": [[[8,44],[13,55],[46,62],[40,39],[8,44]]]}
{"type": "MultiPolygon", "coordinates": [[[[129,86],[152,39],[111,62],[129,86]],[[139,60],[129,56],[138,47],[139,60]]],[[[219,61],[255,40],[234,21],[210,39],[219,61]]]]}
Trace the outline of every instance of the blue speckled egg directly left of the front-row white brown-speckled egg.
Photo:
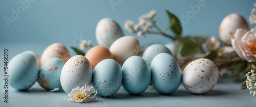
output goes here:
{"type": "Polygon", "coordinates": [[[151,83],[163,94],[169,94],[178,89],[181,82],[181,69],[174,57],[168,53],[159,53],[150,66],[151,83]]]}

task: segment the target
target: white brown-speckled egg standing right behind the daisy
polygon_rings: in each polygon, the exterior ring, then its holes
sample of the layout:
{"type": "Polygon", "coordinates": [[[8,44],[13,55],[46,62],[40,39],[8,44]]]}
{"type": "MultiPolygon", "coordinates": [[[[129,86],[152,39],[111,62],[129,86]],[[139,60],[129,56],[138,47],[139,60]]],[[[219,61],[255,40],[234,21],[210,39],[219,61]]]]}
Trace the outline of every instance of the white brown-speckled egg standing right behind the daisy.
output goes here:
{"type": "Polygon", "coordinates": [[[60,84],[66,93],[75,87],[89,85],[92,81],[92,66],[86,57],[76,55],[63,66],[60,74],[60,84]]]}

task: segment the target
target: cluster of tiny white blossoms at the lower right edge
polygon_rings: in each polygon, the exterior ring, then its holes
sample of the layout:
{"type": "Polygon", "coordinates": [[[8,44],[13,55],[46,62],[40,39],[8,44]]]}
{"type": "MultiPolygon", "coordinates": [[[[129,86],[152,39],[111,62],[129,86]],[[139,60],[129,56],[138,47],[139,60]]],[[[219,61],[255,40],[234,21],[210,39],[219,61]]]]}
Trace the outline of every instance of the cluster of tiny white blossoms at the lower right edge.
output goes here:
{"type": "Polygon", "coordinates": [[[246,87],[247,89],[250,90],[250,94],[255,96],[256,95],[256,73],[252,69],[246,74],[246,76],[247,76],[246,87]]]}

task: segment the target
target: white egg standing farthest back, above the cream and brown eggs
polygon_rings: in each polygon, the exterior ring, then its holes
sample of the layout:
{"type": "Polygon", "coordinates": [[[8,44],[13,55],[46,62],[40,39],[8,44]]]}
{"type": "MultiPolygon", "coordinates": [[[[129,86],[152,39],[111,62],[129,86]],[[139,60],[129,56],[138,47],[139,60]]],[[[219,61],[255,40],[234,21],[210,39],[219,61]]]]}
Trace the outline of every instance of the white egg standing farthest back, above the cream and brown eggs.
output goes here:
{"type": "Polygon", "coordinates": [[[110,48],[111,44],[122,36],[121,27],[113,19],[103,18],[96,26],[96,39],[100,46],[110,48]]]}

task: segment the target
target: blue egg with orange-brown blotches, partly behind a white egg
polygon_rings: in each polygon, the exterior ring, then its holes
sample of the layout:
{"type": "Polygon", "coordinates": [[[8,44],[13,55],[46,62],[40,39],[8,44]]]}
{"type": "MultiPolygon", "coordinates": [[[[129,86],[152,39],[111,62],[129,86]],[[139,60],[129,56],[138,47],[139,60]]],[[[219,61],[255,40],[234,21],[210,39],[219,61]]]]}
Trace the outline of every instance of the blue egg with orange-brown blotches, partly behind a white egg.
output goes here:
{"type": "Polygon", "coordinates": [[[57,87],[61,89],[60,73],[64,64],[60,58],[51,58],[42,64],[37,79],[39,85],[48,90],[53,90],[57,87]]]}

